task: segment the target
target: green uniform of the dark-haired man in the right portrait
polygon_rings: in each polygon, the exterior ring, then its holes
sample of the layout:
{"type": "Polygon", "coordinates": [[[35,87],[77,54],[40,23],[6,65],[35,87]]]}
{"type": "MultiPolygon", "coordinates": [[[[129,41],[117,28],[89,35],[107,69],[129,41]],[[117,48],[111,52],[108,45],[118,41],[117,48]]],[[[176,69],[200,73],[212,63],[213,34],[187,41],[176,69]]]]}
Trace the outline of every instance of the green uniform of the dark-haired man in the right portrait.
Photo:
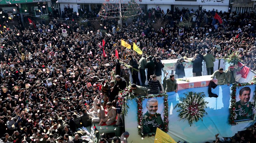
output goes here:
{"type": "Polygon", "coordinates": [[[246,105],[241,105],[241,102],[236,102],[236,110],[235,113],[237,114],[236,120],[244,120],[244,119],[251,119],[252,113],[252,103],[247,102],[246,105]]]}

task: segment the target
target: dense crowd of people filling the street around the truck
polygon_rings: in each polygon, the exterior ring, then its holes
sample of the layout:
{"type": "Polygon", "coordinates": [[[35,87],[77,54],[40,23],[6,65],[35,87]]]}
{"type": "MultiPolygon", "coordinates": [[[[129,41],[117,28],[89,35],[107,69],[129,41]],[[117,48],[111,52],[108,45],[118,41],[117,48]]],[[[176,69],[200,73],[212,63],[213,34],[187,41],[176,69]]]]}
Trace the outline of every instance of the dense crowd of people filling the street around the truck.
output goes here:
{"type": "MultiPolygon", "coordinates": [[[[118,27],[118,19],[94,20],[101,24],[100,29],[77,21],[67,24],[59,18],[17,28],[1,19],[0,136],[3,142],[76,143],[85,141],[76,133],[77,129],[91,122],[122,127],[117,95],[130,85],[130,76],[131,89],[138,96],[177,92],[176,75],[166,73],[162,83],[161,60],[177,59],[176,74],[180,78],[185,76],[185,57],[194,57],[193,63],[198,68],[193,73],[200,76],[202,60],[208,54],[211,55],[208,59],[215,60],[239,51],[242,62],[256,70],[253,12],[175,8],[165,14],[158,7],[140,12],[131,23],[123,21],[122,29],[117,28],[115,34],[112,28],[118,27]],[[212,25],[215,13],[222,18],[222,24],[212,25]],[[190,26],[178,26],[191,16],[190,26]],[[165,25],[154,29],[157,19],[165,21],[165,25]],[[181,36],[180,28],[184,28],[181,36]],[[67,29],[67,37],[62,36],[62,29],[67,29]],[[191,36],[194,38],[190,39],[191,36]],[[130,45],[140,43],[143,54],[122,46],[121,39],[130,45]]],[[[212,67],[207,66],[208,75],[213,74],[212,67]]],[[[105,137],[100,142],[126,143],[128,137],[129,133],[124,132],[120,139],[105,137]]]]}

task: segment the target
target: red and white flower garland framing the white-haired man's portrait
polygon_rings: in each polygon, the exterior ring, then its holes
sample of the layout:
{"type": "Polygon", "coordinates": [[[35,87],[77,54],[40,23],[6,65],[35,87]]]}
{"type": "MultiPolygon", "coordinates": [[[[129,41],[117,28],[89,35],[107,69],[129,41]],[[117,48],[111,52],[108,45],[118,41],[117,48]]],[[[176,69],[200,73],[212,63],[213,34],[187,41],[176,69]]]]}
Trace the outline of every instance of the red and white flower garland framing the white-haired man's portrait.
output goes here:
{"type": "Polygon", "coordinates": [[[167,94],[156,94],[156,95],[149,95],[147,97],[140,97],[140,98],[137,98],[137,108],[138,108],[138,111],[137,111],[137,116],[138,116],[138,132],[139,132],[139,135],[142,137],[142,138],[145,138],[145,137],[151,137],[151,136],[155,136],[155,134],[143,134],[143,126],[142,126],[142,119],[143,119],[143,113],[142,113],[142,110],[143,110],[143,107],[142,107],[142,102],[145,98],[153,98],[153,97],[164,97],[164,131],[165,132],[168,132],[169,131],[169,114],[168,114],[168,95],[167,94]]]}

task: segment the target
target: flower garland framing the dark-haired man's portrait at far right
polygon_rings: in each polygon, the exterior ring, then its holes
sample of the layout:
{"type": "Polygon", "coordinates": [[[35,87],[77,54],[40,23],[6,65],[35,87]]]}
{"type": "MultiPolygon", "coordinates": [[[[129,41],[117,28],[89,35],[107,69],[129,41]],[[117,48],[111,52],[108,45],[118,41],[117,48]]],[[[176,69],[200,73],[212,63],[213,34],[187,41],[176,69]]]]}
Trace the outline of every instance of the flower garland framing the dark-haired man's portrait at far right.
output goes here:
{"type": "MultiPolygon", "coordinates": [[[[235,122],[235,118],[236,118],[236,87],[241,87],[241,86],[249,86],[249,85],[253,85],[256,84],[256,76],[253,77],[253,80],[251,80],[250,83],[238,83],[238,84],[233,84],[233,86],[231,87],[231,94],[230,94],[230,98],[231,98],[231,106],[229,108],[229,124],[234,126],[237,124],[237,122],[235,122]]],[[[254,97],[254,103],[256,102],[256,98],[254,97]]]]}

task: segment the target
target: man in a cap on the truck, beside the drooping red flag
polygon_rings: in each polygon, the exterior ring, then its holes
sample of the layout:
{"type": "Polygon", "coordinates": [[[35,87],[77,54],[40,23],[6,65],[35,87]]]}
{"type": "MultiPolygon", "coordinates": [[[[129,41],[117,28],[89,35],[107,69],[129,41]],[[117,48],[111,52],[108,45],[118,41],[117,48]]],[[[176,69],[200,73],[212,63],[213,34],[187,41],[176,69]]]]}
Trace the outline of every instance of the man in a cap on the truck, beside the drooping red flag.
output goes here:
{"type": "Polygon", "coordinates": [[[228,80],[225,80],[225,84],[232,84],[238,82],[238,80],[242,77],[242,74],[236,74],[236,72],[240,71],[242,68],[244,68],[244,66],[244,64],[241,67],[231,64],[229,68],[225,71],[228,77],[228,80]]]}

